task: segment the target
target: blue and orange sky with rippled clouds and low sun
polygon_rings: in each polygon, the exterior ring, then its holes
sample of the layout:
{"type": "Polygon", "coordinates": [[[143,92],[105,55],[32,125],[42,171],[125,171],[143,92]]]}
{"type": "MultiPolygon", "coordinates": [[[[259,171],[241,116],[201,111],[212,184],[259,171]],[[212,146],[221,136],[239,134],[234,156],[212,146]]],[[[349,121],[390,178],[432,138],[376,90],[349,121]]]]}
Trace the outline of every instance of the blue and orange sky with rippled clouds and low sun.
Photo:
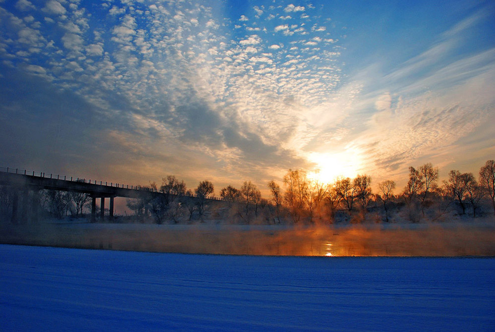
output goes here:
{"type": "MultiPolygon", "coordinates": [[[[0,166],[260,189],[495,159],[493,1],[0,0],[0,166]]],[[[400,188],[399,188],[400,189],[400,188]]]]}

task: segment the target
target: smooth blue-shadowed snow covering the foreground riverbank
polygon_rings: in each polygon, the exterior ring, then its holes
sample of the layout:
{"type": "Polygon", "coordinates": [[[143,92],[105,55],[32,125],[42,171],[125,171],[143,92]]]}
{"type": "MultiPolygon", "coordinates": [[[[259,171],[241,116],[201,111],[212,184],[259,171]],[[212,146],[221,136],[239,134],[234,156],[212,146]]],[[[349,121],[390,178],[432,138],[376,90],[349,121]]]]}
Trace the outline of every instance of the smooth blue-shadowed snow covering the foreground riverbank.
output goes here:
{"type": "Polygon", "coordinates": [[[0,245],[1,331],[494,331],[494,258],[0,245]]]}

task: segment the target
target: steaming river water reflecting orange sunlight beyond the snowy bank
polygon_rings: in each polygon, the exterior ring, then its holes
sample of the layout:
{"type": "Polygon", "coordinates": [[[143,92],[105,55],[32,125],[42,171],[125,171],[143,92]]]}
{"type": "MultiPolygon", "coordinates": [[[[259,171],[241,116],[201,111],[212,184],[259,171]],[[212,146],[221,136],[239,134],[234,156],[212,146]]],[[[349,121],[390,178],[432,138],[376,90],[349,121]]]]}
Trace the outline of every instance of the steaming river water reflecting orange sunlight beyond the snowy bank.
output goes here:
{"type": "Polygon", "coordinates": [[[4,225],[0,242],[75,248],[280,256],[495,256],[495,227],[4,225]]]}

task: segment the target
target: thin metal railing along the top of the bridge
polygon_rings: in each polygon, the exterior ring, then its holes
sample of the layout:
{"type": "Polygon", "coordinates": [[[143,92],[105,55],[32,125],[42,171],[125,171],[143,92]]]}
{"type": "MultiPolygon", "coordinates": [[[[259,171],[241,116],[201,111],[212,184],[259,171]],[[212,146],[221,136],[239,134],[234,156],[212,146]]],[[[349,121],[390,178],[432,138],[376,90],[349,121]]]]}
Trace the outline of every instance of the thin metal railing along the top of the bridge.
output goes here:
{"type": "MultiPolygon", "coordinates": [[[[133,190],[141,190],[141,191],[149,191],[149,192],[163,192],[160,189],[154,189],[154,188],[150,188],[150,187],[134,186],[134,185],[123,184],[123,183],[108,182],[108,181],[103,181],[103,180],[94,180],[94,179],[86,179],[86,178],[68,176],[68,175],[37,172],[34,170],[26,170],[26,169],[19,169],[19,168],[0,167],[0,172],[6,172],[6,173],[12,173],[12,174],[22,174],[22,175],[29,175],[29,176],[36,176],[36,177],[43,177],[43,178],[48,178],[48,179],[57,179],[57,180],[64,180],[64,181],[72,181],[72,182],[98,184],[98,185],[107,186],[107,187],[114,187],[114,188],[133,189],[133,190]]],[[[196,195],[194,195],[194,194],[192,194],[192,195],[186,194],[186,196],[196,197],[196,195]]],[[[215,201],[222,201],[221,198],[215,197],[215,196],[210,196],[210,197],[208,197],[208,199],[215,200],[215,201]]]]}

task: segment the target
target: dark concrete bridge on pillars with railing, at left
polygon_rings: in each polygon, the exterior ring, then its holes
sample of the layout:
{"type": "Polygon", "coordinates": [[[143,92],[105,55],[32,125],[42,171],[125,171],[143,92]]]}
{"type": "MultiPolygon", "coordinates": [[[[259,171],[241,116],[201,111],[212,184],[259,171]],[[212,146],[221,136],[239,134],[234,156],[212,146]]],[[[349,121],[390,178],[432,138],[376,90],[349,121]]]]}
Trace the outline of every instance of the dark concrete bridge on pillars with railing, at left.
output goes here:
{"type": "MultiPolygon", "coordinates": [[[[67,175],[48,174],[44,172],[27,171],[17,168],[0,167],[0,184],[9,185],[15,189],[12,197],[12,222],[17,222],[19,197],[22,197],[22,211],[37,211],[37,192],[41,189],[80,192],[89,194],[91,201],[91,221],[96,221],[96,200],[100,200],[100,219],[105,218],[105,199],[109,198],[109,218],[114,218],[114,198],[139,198],[143,194],[152,196],[166,195],[148,187],[114,183],[95,179],[86,179],[67,175]],[[31,192],[31,194],[30,194],[31,192]]],[[[194,196],[193,196],[194,197],[194,196]]],[[[219,200],[216,197],[209,199],[219,200]]]]}

